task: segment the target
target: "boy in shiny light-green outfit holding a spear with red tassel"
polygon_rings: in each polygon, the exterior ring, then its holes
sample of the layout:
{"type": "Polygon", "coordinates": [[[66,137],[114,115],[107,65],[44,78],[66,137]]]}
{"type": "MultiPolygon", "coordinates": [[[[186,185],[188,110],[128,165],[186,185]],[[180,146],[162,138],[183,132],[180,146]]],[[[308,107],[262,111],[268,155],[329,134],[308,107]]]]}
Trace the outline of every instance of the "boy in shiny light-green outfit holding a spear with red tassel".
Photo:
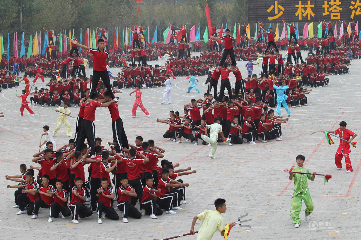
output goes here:
{"type": "Polygon", "coordinates": [[[300,173],[292,173],[292,172],[307,172],[309,173],[308,168],[303,166],[305,162],[304,155],[297,155],[296,163],[297,166],[292,169],[290,172],[290,176],[288,177],[290,180],[295,178],[295,191],[293,191],[292,201],[291,201],[291,219],[292,224],[295,227],[299,227],[301,223],[300,212],[302,207],[302,200],[305,202],[305,217],[303,219],[304,222],[308,221],[308,216],[313,211],[313,203],[310,195],[310,191],[308,190],[307,178],[313,181],[316,176],[316,172],[313,172],[312,175],[309,174],[300,174],[300,173]]]}

